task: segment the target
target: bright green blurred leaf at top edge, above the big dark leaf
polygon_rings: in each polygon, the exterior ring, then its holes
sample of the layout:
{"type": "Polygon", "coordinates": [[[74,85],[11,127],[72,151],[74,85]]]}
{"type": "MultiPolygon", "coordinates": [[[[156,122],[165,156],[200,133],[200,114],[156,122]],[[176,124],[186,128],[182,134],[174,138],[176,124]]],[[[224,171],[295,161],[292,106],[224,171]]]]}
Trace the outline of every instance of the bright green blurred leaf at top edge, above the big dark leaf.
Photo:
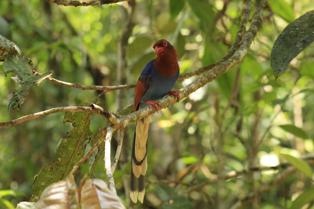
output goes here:
{"type": "Polygon", "coordinates": [[[285,21],[292,22],[295,20],[293,9],[285,0],[270,0],[267,2],[270,9],[285,21]]]}

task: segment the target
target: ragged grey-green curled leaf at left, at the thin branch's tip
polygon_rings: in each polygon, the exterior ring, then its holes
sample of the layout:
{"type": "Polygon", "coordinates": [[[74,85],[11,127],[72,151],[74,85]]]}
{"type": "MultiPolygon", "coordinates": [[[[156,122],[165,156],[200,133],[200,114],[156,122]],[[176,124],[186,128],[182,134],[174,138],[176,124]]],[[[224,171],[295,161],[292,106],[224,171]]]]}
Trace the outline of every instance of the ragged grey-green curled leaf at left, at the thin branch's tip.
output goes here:
{"type": "Polygon", "coordinates": [[[34,65],[32,61],[21,55],[13,55],[4,60],[3,69],[4,75],[15,73],[12,80],[18,83],[18,86],[13,90],[12,96],[8,102],[8,108],[21,108],[24,102],[24,96],[30,91],[31,86],[38,86],[41,81],[51,76],[53,71],[49,71],[42,75],[33,76],[34,65]]]}

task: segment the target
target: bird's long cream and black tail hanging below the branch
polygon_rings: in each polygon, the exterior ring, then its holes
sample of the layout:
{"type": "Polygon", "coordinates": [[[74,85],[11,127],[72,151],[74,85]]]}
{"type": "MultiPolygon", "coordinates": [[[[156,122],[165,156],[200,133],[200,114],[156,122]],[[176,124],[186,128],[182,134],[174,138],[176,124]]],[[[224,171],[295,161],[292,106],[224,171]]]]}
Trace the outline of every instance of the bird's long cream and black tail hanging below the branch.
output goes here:
{"type": "Polygon", "coordinates": [[[145,173],[147,170],[147,137],[150,122],[150,115],[137,121],[131,164],[130,197],[136,203],[139,200],[143,203],[145,194],[145,173]]]}

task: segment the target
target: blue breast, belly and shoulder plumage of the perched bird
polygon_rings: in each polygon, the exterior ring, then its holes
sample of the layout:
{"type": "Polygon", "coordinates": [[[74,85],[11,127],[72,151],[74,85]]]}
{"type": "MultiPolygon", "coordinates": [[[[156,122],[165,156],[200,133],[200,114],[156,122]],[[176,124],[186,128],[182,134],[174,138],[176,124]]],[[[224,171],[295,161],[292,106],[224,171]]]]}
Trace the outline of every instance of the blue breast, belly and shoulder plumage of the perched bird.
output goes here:
{"type": "Polygon", "coordinates": [[[143,69],[139,80],[144,82],[144,87],[148,87],[140,100],[141,107],[145,101],[156,101],[159,100],[171,91],[179,77],[179,69],[175,76],[164,77],[160,75],[154,65],[154,60],[150,61],[143,69]],[[150,83],[150,84],[149,84],[150,83]]]}

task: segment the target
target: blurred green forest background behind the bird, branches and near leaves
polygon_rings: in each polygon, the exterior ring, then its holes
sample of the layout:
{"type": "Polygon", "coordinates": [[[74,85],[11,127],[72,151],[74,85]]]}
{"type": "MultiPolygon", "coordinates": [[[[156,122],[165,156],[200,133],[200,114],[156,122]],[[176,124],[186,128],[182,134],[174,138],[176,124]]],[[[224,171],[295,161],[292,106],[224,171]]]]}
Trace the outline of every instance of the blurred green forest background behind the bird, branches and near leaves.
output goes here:
{"type": "MultiPolygon", "coordinates": [[[[176,47],[181,73],[221,59],[236,36],[242,8],[241,0],[137,0],[124,82],[138,79],[143,67],[154,59],[152,45],[159,39],[176,47]]],[[[180,103],[154,114],[144,204],[128,208],[230,208],[254,188],[269,183],[278,171],[244,175],[192,191],[187,191],[187,184],[198,185],[232,170],[278,165],[285,162],[279,153],[295,157],[313,153],[313,44],[292,60],[277,81],[270,52],[280,32],[314,9],[314,1],[272,0],[265,8],[263,28],[240,64],[180,103]],[[299,129],[279,127],[284,124],[301,128],[307,136],[298,137],[299,129]]],[[[44,0],[1,0],[0,34],[17,44],[40,73],[53,70],[52,77],[83,85],[117,85],[118,42],[129,12],[127,2],[75,8],[44,0]]],[[[21,110],[8,110],[16,86],[10,76],[14,74],[0,75],[1,122],[53,107],[92,103],[100,93],[45,80],[30,89],[21,110]]],[[[178,81],[174,89],[196,77],[178,81]]],[[[106,93],[99,102],[117,112],[133,97],[134,89],[122,93],[119,104],[116,91],[106,93]]],[[[63,117],[64,113],[56,113],[0,129],[0,208],[15,208],[18,202],[29,200],[34,176],[57,159],[57,143],[72,128],[70,123],[62,123],[63,117]]],[[[103,117],[92,115],[93,136],[105,125],[103,117]]],[[[126,205],[124,184],[129,180],[133,128],[134,124],[126,129],[124,157],[114,174],[118,195],[126,205]]],[[[113,142],[112,154],[115,146],[113,142]]],[[[88,165],[82,165],[76,180],[87,170],[88,165]]],[[[106,180],[102,160],[94,175],[106,180]]],[[[310,179],[297,172],[243,208],[287,208],[311,186],[310,179]]]]}

